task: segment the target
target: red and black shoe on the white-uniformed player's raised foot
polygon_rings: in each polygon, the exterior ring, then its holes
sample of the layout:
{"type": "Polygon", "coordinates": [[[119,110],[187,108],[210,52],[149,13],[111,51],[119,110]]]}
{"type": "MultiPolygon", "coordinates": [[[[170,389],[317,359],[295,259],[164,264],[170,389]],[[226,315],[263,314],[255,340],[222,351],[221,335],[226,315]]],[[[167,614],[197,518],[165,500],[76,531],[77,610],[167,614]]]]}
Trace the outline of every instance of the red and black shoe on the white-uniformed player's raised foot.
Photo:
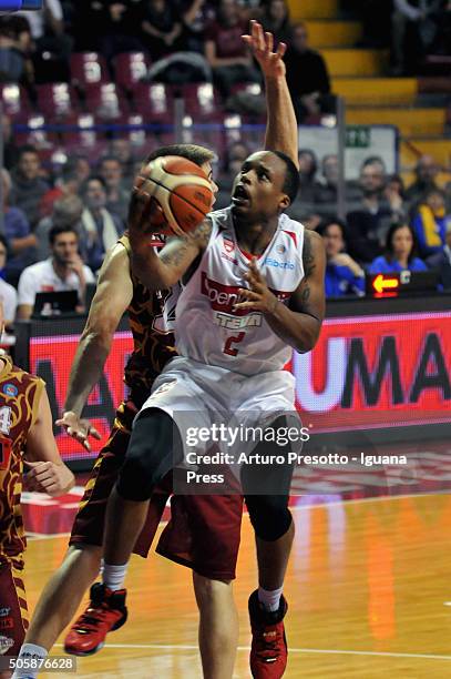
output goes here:
{"type": "Polygon", "coordinates": [[[91,587],[86,610],[72,625],[64,640],[64,650],[72,656],[91,656],[100,650],[109,631],[126,620],[125,589],[112,591],[102,582],[91,587]]]}

